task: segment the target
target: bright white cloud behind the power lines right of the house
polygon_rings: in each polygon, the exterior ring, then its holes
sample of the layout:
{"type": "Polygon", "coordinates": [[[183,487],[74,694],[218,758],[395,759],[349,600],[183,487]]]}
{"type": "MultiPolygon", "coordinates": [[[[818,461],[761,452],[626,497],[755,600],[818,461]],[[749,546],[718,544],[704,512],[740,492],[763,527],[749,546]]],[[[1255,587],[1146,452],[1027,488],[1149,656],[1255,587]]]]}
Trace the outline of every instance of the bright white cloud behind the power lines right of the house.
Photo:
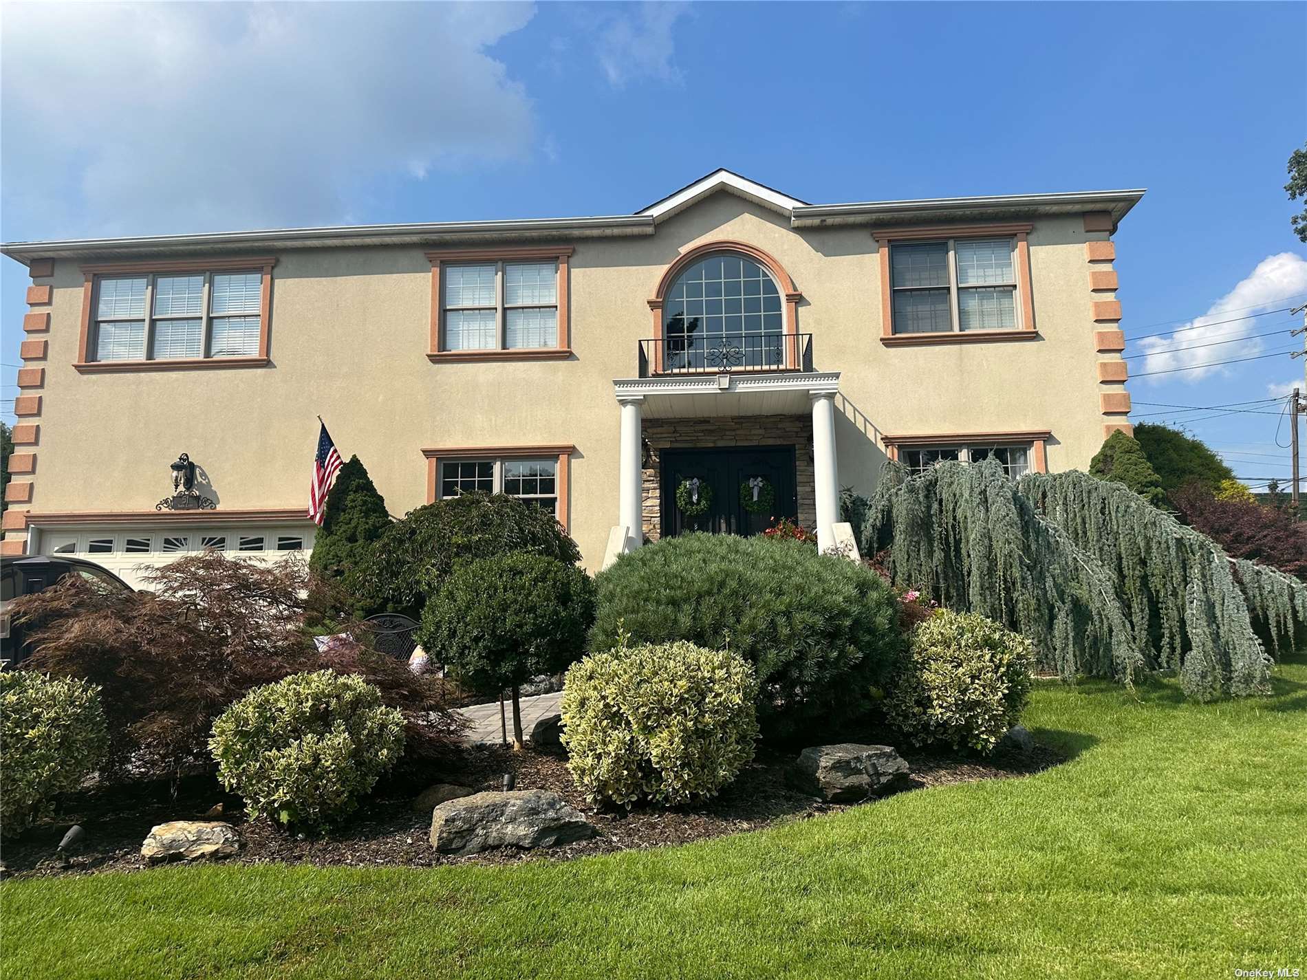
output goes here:
{"type": "MultiPolygon", "coordinates": [[[[1168,371],[1176,367],[1192,367],[1189,371],[1178,371],[1167,375],[1154,375],[1149,380],[1180,379],[1189,383],[1199,382],[1208,375],[1225,372],[1227,367],[1193,367],[1195,365],[1208,365],[1213,361],[1230,361],[1240,357],[1253,357],[1260,354],[1265,345],[1261,338],[1249,335],[1261,333],[1266,329],[1266,320],[1239,320],[1238,323],[1222,323],[1235,316],[1247,316],[1259,310],[1268,310],[1278,304],[1285,297],[1307,293],[1307,260],[1293,252],[1270,255],[1257,263],[1257,268],[1239,285],[1221,297],[1206,314],[1180,324],[1197,329],[1185,329],[1182,333],[1171,333],[1167,337],[1148,337],[1138,341],[1141,353],[1148,354],[1144,359],[1142,372],[1168,371]],[[1199,346],[1214,341],[1235,341],[1221,344],[1219,346],[1199,346]],[[1183,350],[1182,348],[1188,348],[1183,350]]],[[[1285,346],[1289,336],[1272,338],[1277,349],[1285,346]]]]}

